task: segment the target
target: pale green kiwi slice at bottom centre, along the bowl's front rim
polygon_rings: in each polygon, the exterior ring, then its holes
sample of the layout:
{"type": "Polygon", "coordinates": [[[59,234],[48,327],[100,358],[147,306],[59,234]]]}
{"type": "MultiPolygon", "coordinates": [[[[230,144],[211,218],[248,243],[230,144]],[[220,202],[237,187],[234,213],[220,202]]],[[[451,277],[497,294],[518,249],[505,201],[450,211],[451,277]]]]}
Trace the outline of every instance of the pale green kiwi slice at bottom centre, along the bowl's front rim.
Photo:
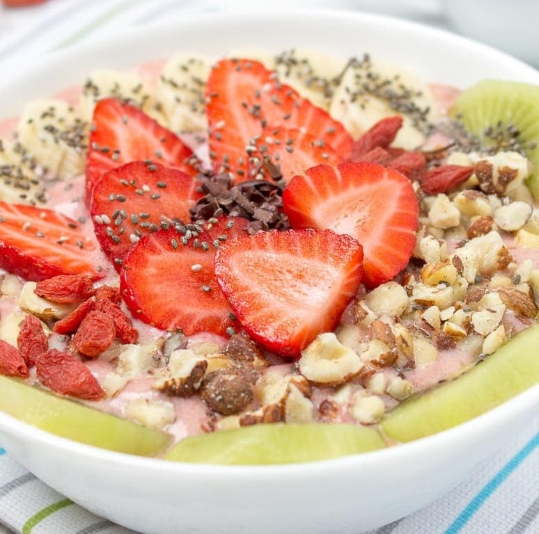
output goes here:
{"type": "Polygon", "coordinates": [[[275,423],[182,439],[166,460],[208,464],[288,464],[384,448],[379,432],[345,424],[275,423]]]}

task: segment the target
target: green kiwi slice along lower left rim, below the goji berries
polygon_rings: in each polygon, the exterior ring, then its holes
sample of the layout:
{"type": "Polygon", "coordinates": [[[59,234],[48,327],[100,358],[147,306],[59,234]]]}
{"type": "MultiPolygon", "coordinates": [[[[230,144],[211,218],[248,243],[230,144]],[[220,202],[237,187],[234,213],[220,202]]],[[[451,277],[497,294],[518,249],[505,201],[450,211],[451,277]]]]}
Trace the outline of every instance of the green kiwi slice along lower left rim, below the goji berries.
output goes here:
{"type": "Polygon", "coordinates": [[[165,432],[5,376],[0,376],[0,410],[58,436],[122,453],[153,456],[164,451],[172,441],[172,436],[165,432]]]}

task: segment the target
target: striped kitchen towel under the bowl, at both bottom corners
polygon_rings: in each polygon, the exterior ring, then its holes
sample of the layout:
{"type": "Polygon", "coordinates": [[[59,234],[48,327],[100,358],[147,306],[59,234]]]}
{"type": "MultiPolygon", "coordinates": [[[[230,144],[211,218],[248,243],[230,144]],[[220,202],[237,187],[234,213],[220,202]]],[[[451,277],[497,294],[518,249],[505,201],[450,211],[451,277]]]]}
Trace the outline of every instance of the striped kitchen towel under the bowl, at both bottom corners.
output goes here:
{"type": "MultiPolygon", "coordinates": [[[[451,493],[368,534],[539,533],[538,428],[536,416],[451,493]]],[[[22,534],[132,533],[65,499],[5,453],[0,456],[0,524],[22,534]]]]}

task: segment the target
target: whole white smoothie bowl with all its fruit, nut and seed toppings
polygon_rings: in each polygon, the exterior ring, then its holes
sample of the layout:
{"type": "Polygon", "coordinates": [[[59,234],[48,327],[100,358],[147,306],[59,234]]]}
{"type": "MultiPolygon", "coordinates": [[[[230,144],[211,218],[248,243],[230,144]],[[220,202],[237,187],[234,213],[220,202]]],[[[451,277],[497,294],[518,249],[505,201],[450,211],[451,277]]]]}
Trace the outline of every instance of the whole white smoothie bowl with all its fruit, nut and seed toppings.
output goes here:
{"type": "Polygon", "coordinates": [[[441,495],[538,405],[538,83],[350,13],[21,67],[3,446],[148,533],[360,531],[441,495]]]}

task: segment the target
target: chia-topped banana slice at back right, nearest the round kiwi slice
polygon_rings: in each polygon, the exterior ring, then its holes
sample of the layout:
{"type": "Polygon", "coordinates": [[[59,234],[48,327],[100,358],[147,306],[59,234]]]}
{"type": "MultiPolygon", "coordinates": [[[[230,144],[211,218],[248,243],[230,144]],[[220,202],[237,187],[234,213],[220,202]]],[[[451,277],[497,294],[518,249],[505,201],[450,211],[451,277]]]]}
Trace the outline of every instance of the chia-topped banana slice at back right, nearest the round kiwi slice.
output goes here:
{"type": "Polygon", "coordinates": [[[405,149],[419,147],[425,141],[428,124],[439,115],[435,100],[421,79],[368,56],[349,63],[334,92],[329,113],[354,138],[384,117],[402,115],[403,127],[394,145],[405,149]]]}

